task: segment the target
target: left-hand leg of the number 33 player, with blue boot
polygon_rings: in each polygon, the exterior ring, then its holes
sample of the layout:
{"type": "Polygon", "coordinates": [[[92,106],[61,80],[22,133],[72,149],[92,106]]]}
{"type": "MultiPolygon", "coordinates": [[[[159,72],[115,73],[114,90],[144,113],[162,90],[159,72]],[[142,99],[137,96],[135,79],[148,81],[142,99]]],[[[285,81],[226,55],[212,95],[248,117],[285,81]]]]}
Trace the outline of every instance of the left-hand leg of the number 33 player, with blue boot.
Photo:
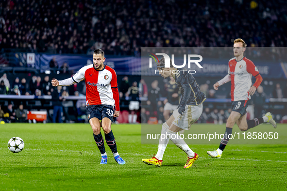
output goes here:
{"type": "Polygon", "coordinates": [[[99,119],[96,117],[91,118],[89,122],[93,129],[95,142],[97,143],[97,146],[101,152],[101,163],[100,164],[106,164],[108,157],[107,157],[107,153],[104,148],[104,141],[101,135],[101,123],[99,119]]]}

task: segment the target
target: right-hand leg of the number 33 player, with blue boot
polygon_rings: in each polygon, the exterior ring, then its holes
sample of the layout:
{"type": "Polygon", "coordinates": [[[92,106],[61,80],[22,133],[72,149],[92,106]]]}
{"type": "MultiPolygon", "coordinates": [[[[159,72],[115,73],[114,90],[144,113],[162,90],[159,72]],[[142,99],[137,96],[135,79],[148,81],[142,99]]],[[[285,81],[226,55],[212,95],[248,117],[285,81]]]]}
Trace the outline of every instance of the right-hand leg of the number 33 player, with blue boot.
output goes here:
{"type": "Polygon", "coordinates": [[[117,143],[113,131],[111,130],[112,121],[108,117],[104,117],[101,121],[101,127],[104,131],[104,136],[107,145],[113,152],[114,158],[118,164],[125,164],[126,162],[119,156],[117,143]]]}

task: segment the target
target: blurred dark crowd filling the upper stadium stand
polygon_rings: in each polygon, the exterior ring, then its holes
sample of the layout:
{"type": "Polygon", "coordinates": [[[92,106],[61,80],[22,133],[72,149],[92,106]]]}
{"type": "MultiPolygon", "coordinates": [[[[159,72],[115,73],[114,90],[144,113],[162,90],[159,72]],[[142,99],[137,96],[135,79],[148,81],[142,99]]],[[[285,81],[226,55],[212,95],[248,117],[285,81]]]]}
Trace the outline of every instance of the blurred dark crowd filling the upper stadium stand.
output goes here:
{"type": "Polygon", "coordinates": [[[6,0],[0,47],[139,56],[140,47],[231,47],[238,36],[287,47],[286,24],[282,0],[6,0]]]}

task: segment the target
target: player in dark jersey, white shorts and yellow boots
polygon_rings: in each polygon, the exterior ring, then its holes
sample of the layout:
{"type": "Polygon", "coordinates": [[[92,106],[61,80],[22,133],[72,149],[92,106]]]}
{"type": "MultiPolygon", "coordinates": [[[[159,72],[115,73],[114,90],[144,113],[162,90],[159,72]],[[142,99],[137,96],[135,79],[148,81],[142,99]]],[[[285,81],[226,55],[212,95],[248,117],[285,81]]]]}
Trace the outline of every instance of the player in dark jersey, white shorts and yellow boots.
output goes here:
{"type": "MultiPolygon", "coordinates": [[[[171,65],[171,60],[170,60],[171,65]]],[[[191,125],[196,122],[203,112],[203,101],[206,96],[200,91],[192,74],[189,74],[186,69],[177,69],[174,67],[165,68],[165,60],[162,58],[157,65],[160,75],[164,78],[173,77],[178,86],[182,97],[178,108],[173,111],[168,121],[162,126],[161,139],[158,144],[157,154],[152,159],[142,159],[149,165],[162,165],[162,158],[166,147],[171,140],[176,146],[182,149],[187,155],[187,161],[184,168],[190,168],[195,160],[198,159],[198,154],[193,152],[186,142],[176,135],[177,132],[186,129],[189,130],[191,125]]]]}

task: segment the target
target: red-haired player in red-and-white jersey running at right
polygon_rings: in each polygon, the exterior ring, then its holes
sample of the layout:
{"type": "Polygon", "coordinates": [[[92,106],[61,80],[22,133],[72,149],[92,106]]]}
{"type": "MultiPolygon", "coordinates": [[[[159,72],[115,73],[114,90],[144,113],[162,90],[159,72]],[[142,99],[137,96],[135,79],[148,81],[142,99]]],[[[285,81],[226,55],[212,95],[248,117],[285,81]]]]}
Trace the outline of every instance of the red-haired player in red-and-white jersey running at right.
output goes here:
{"type": "Polygon", "coordinates": [[[231,81],[231,101],[232,111],[227,119],[225,137],[221,140],[219,148],[215,151],[207,151],[207,154],[212,158],[220,158],[229,141],[229,135],[232,133],[232,127],[236,123],[241,131],[246,131],[250,128],[258,126],[261,123],[270,123],[276,128],[276,123],[272,119],[270,112],[265,116],[246,120],[246,108],[249,105],[251,96],[255,93],[256,89],[262,82],[262,77],[253,62],[247,59],[243,54],[246,50],[246,43],[241,38],[234,41],[233,52],[234,58],[228,62],[228,74],[216,82],[213,87],[218,90],[218,87],[224,83],[231,81]],[[255,83],[252,85],[251,78],[256,78],[255,83]]]}

